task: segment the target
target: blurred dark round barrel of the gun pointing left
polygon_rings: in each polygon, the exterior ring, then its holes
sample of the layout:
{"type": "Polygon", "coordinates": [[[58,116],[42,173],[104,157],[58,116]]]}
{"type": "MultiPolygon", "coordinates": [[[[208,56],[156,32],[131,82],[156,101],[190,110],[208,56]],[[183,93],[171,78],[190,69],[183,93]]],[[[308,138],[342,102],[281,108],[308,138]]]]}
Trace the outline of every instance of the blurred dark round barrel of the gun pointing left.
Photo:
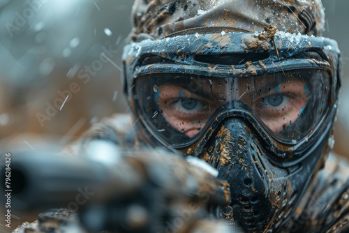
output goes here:
{"type": "MultiPolygon", "coordinates": [[[[67,208],[70,202],[86,202],[96,192],[102,198],[103,190],[113,190],[110,183],[123,188],[125,193],[140,183],[135,173],[125,175],[127,166],[116,166],[113,170],[102,163],[73,156],[50,154],[18,154],[10,165],[10,188],[1,182],[1,191],[11,190],[13,209],[67,208]]],[[[5,175],[5,167],[1,168],[5,175]]],[[[3,179],[5,180],[5,179],[3,179]]],[[[4,197],[4,195],[1,195],[4,197]]]]}

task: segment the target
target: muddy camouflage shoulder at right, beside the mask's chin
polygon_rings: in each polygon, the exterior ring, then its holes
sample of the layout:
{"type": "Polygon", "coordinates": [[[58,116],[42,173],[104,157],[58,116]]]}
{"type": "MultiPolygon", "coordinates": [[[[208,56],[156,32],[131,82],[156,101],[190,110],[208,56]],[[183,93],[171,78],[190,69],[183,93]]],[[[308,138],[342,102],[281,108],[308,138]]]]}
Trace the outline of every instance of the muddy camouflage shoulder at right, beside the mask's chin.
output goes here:
{"type": "Polygon", "coordinates": [[[334,153],[296,209],[293,227],[302,232],[349,230],[349,160],[334,153]]]}

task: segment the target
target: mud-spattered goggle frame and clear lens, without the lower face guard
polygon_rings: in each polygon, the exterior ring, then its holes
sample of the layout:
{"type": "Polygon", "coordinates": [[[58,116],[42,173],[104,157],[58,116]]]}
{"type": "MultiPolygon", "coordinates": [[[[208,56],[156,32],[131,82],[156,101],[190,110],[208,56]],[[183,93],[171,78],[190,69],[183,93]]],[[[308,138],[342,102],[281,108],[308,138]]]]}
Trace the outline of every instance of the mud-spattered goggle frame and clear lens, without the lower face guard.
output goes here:
{"type": "Polygon", "coordinates": [[[295,151],[322,132],[336,100],[339,50],[327,38],[195,34],[133,43],[124,55],[140,120],[174,149],[239,110],[270,146],[295,151]]]}

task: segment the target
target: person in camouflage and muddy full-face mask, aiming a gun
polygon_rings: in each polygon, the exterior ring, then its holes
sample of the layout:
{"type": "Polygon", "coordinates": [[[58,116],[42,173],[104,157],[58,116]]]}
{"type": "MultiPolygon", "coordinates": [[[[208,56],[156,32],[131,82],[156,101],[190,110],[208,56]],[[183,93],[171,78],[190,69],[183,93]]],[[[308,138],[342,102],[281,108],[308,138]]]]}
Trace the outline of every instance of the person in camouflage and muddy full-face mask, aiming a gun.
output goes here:
{"type": "MultiPolygon", "coordinates": [[[[329,156],[340,54],[320,0],[136,0],[132,15],[137,146],[214,167],[223,218],[244,232],[349,231],[349,166],[329,156]]],[[[84,142],[114,142],[114,125],[84,142]]]]}

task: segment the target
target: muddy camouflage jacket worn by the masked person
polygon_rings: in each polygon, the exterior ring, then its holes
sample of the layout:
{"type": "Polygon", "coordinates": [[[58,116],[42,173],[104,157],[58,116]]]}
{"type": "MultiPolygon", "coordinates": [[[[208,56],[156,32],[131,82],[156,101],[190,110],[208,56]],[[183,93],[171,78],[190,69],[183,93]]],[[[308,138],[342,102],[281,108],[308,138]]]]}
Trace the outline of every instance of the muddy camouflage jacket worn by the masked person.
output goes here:
{"type": "MultiPolygon", "coordinates": [[[[96,123],[82,140],[68,146],[64,153],[78,156],[91,140],[106,140],[132,149],[141,147],[135,140],[131,117],[116,115],[96,123]]],[[[349,232],[349,165],[345,158],[330,154],[323,170],[313,179],[292,218],[276,232],[349,232]]],[[[221,222],[200,223],[205,232],[217,232],[221,222]]],[[[53,209],[40,213],[34,223],[24,223],[14,232],[85,232],[76,213],[53,209]],[[57,231],[55,231],[57,230],[57,231]]],[[[200,229],[202,230],[202,229],[200,229]]],[[[180,232],[192,232],[180,231],[180,232]]],[[[223,231],[221,231],[223,232],[223,231]]],[[[232,232],[239,232],[235,229],[232,232]]]]}

